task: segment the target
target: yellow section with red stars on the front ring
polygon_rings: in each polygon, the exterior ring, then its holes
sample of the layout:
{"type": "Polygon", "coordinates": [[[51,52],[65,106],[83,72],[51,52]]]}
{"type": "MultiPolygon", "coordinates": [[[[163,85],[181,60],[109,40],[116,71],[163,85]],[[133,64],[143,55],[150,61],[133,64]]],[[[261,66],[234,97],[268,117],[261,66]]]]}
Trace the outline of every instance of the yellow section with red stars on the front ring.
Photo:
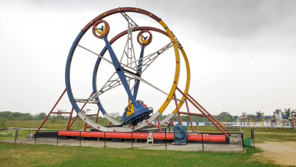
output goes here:
{"type": "Polygon", "coordinates": [[[175,70],[175,77],[173,80],[173,82],[176,81],[176,83],[172,82],[172,87],[170,89],[170,92],[168,93],[168,97],[165,99],[163,105],[158,109],[160,114],[162,114],[163,111],[165,110],[165,108],[167,108],[168,104],[170,103],[170,100],[172,100],[173,94],[174,94],[176,87],[178,85],[181,63],[180,63],[180,55],[179,55],[177,41],[175,40],[173,33],[171,32],[171,30],[167,27],[167,25],[162,20],[160,20],[159,23],[161,26],[163,26],[165,31],[168,33],[168,36],[170,37],[170,40],[173,44],[173,48],[174,48],[174,52],[175,52],[175,58],[176,58],[176,70],[175,70]]]}

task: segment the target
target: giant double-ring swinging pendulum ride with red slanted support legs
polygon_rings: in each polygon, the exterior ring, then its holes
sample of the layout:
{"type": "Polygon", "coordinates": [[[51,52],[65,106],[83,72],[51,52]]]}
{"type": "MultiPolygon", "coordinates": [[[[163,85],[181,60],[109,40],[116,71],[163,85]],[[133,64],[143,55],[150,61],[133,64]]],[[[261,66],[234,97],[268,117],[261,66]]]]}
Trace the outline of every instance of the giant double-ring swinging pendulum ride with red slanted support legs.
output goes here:
{"type": "MultiPolygon", "coordinates": [[[[77,54],[75,53],[75,56],[77,54]]],[[[172,57],[172,58],[173,58],[172,57]]],[[[46,116],[38,130],[41,129],[41,127],[44,125],[44,122],[48,119],[50,114],[57,114],[56,112],[53,112],[55,106],[57,103],[59,103],[59,100],[62,98],[62,96],[67,92],[68,98],[70,100],[70,103],[72,105],[72,110],[71,112],[64,112],[62,114],[70,114],[70,118],[67,123],[67,128],[66,130],[69,130],[73,122],[77,117],[80,117],[84,122],[84,131],[88,127],[93,127],[97,130],[103,131],[103,132],[132,132],[135,130],[139,130],[146,125],[151,125],[154,127],[157,127],[159,131],[161,131],[161,125],[163,124],[168,124],[169,121],[172,122],[172,117],[174,115],[178,115],[179,122],[181,121],[181,116],[180,114],[186,114],[189,115],[189,120],[191,123],[191,127],[193,130],[192,126],[192,120],[191,120],[191,115],[194,116],[202,116],[206,117],[210,122],[212,122],[213,125],[215,125],[218,130],[220,130],[222,133],[229,133],[228,130],[226,130],[225,127],[221,125],[205,108],[203,108],[188,92],[189,92],[189,84],[190,84],[190,68],[189,68],[189,60],[187,58],[187,55],[184,51],[183,46],[181,43],[178,41],[176,36],[173,34],[173,32],[169,29],[169,27],[163,22],[163,20],[159,17],[157,17],[154,13],[148,12],[143,9],[139,8],[134,8],[134,7],[122,7],[122,8],[116,8],[112,9],[109,11],[106,11],[91,21],[89,21],[86,26],[81,29],[80,33],[78,36],[75,38],[69,54],[67,55],[67,62],[66,62],[66,68],[65,68],[65,84],[66,84],[66,89],[64,92],[61,94],[55,105],[53,106],[52,110],[49,112],[49,114],[46,116]],[[138,24],[135,23],[134,20],[132,20],[127,13],[128,12],[133,12],[133,13],[138,13],[141,15],[146,15],[147,17],[155,20],[157,23],[159,23],[162,27],[163,30],[155,28],[155,27],[150,27],[150,26],[139,26],[138,24]],[[107,21],[104,20],[104,18],[114,15],[114,14],[121,14],[123,18],[127,21],[127,29],[125,31],[122,31],[121,33],[115,35],[112,39],[108,36],[109,31],[112,31],[112,27],[109,25],[107,21]],[[168,43],[165,44],[162,48],[158,49],[152,54],[149,54],[147,56],[144,55],[144,50],[146,47],[149,47],[149,44],[152,42],[152,33],[151,31],[158,32],[160,34],[165,35],[166,37],[169,38],[168,43]],[[136,59],[136,53],[133,50],[133,45],[135,42],[133,41],[133,34],[137,33],[136,38],[137,38],[137,44],[141,47],[141,52],[139,54],[138,59],[136,59]],[[94,38],[104,40],[104,45],[102,46],[102,51],[100,53],[95,53],[89,49],[86,48],[86,46],[82,46],[80,44],[80,40],[83,38],[83,36],[86,33],[92,33],[92,36],[94,38]],[[145,35],[145,34],[148,34],[145,35]],[[109,38],[108,38],[109,37],[109,38]],[[121,37],[127,37],[126,43],[124,47],[124,51],[122,55],[120,54],[121,58],[118,57],[115,52],[113,51],[112,44],[118,40],[121,37]],[[70,84],[70,70],[71,70],[71,62],[73,55],[75,53],[75,49],[77,47],[83,48],[86,52],[93,53],[94,55],[97,56],[97,60],[94,66],[94,71],[93,71],[93,81],[92,81],[92,92],[89,97],[86,98],[75,98],[73,93],[72,93],[72,88],[70,84]],[[152,85],[148,81],[146,81],[144,78],[142,78],[142,73],[149,67],[149,65],[155,61],[155,59],[160,56],[163,52],[168,50],[169,48],[173,48],[174,50],[174,66],[175,66],[175,74],[174,78],[171,80],[171,88],[168,93],[164,92],[163,90],[159,89],[158,87],[152,85]],[[110,58],[112,61],[106,59],[104,57],[104,54],[108,51],[110,54],[110,58]],[[180,76],[180,52],[182,54],[182,59],[184,59],[185,62],[185,67],[186,67],[186,85],[185,89],[181,90],[178,87],[179,83],[179,76],[180,76]],[[127,57],[128,62],[124,64],[122,62],[123,56],[127,57]],[[99,65],[102,62],[109,63],[112,66],[114,66],[114,73],[111,76],[118,75],[116,77],[117,79],[109,79],[104,86],[101,89],[97,89],[97,74],[98,74],[98,69],[99,65]],[[131,85],[131,81],[134,81],[134,84],[131,85]],[[163,104],[161,107],[157,110],[153,110],[151,107],[147,107],[147,105],[144,104],[143,101],[141,100],[136,100],[137,99],[137,94],[139,90],[139,84],[140,82],[146,83],[147,85],[157,89],[158,91],[164,93],[167,95],[165,99],[163,99],[163,104]],[[128,95],[128,106],[124,109],[123,116],[120,117],[120,121],[118,122],[115,119],[113,119],[107,111],[103,108],[103,105],[99,99],[99,96],[103,94],[104,92],[113,89],[119,85],[123,85],[127,95],[128,95]],[[176,97],[176,90],[177,92],[180,92],[182,94],[181,99],[178,99],[176,97]],[[160,120],[159,115],[162,114],[171,100],[174,101],[176,108],[174,111],[169,114],[165,119],[160,120]],[[201,112],[201,114],[196,114],[196,113],[190,113],[189,112],[189,106],[188,103],[192,103],[192,105],[201,112]],[[84,103],[84,105],[79,108],[78,103],[84,103]],[[95,104],[98,106],[98,112],[97,114],[84,114],[82,112],[83,108],[87,103],[90,104],[95,104]],[[187,112],[181,112],[179,109],[182,107],[182,105],[185,103],[187,112]],[[73,111],[77,113],[77,116],[74,118],[74,120],[71,122],[72,114],[73,111]],[[99,111],[102,112],[102,114],[110,121],[110,125],[114,124],[117,126],[110,127],[110,126],[102,126],[97,124],[97,119],[99,115],[99,111]],[[156,112],[155,112],[156,111],[156,112]],[[96,120],[92,121],[91,119],[88,118],[88,116],[96,116],[96,120]],[[152,124],[151,122],[157,119],[157,125],[152,124]],[[87,126],[88,125],[88,126],[87,126]]],[[[59,113],[61,114],[61,113],[59,113]]],[[[172,125],[173,126],[173,125],[172,125]]],[[[225,136],[228,136],[228,134],[225,134],[225,136]]]]}

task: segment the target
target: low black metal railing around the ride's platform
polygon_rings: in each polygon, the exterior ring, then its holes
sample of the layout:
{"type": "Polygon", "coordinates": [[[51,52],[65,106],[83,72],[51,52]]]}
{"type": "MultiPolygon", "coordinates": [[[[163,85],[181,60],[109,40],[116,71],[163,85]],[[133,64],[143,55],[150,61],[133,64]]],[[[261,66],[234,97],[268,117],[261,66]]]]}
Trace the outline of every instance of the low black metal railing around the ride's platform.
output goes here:
{"type": "MultiPolygon", "coordinates": [[[[78,125],[77,125],[78,126],[78,125]]],[[[79,125],[80,126],[80,125],[79,125]]],[[[84,125],[83,125],[84,126],[84,125]]],[[[36,144],[36,141],[37,141],[37,138],[56,138],[57,139],[57,145],[58,145],[58,140],[59,138],[60,139],[67,139],[67,140],[78,140],[79,139],[79,146],[81,146],[81,132],[85,132],[85,131],[78,131],[78,130],[71,130],[71,132],[79,132],[79,138],[77,138],[78,136],[76,136],[76,138],[62,138],[61,136],[59,136],[59,131],[62,131],[62,130],[37,130],[37,128],[9,128],[9,129],[0,129],[0,131],[14,131],[15,130],[15,133],[10,133],[10,134],[3,134],[3,135],[0,135],[0,136],[14,136],[15,137],[15,142],[17,141],[17,138],[18,137],[27,137],[27,136],[20,136],[20,134],[28,134],[28,132],[35,132],[34,136],[31,136],[30,138],[35,138],[35,144],[36,144]],[[24,130],[25,129],[25,130],[24,130]],[[28,130],[29,129],[29,130],[28,130]],[[34,129],[34,130],[32,130],[34,129]],[[27,133],[19,133],[19,131],[27,131],[27,133]],[[38,132],[57,132],[57,137],[41,137],[40,135],[38,136],[38,132]]],[[[232,131],[232,130],[231,130],[232,131]]],[[[233,130],[234,131],[234,130],[233,130]]],[[[101,131],[93,131],[93,132],[101,132],[101,131]]],[[[103,132],[104,133],[104,147],[106,147],[106,132],[103,132]]],[[[133,133],[164,133],[165,134],[165,150],[167,149],[167,133],[168,132],[107,132],[107,133],[131,133],[131,147],[132,148],[135,148],[133,146],[133,133]]],[[[181,132],[174,132],[174,133],[181,133],[181,132]]],[[[169,133],[170,134],[170,133],[169,133]]],[[[202,138],[202,141],[201,141],[201,144],[202,144],[202,150],[204,150],[204,144],[207,144],[207,143],[215,143],[215,144],[234,144],[234,143],[242,143],[242,147],[243,147],[243,150],[245,151],[245,148],[244,148],[244,133],[242,132],[238,132],[238,133],[215,133],[215,132],[187,132],[187,133],[182,133],[182,134],[187,134],[186,136],[188,136],[188,134],[201,134],[201,138],[202,138]],[[242,139],[242,141],[239,141],[239,142],[210,142],[210,141],[204,141],[204,136],[205,135],[211,135],[211,134],[215,134],[215,135],[233,135],[233,134],[238,134],[239,138],[242,139]],[[239,135],[240,134],[240,135],[239,135]]],[[[188,141],[188,139],[187,139],[188,141]]],[[[200,143],[200,141],[196,141],[197,143],[200,143]]],[[[155,146],[155,145],[154,145],[155,146]]],[[[157,146],[163,146],[163,145],[157,145],[157,146]]],[[[141,147],[137,147],[137,148],[141,148],[141,147]]]]}

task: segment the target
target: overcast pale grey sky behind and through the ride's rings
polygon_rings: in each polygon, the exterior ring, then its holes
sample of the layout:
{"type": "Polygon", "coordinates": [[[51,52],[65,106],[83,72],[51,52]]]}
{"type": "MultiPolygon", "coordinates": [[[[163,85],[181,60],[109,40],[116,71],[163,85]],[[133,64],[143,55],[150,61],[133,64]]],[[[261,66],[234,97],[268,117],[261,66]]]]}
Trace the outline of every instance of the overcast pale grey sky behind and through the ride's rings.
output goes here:
{"type": "MultiPolygon", "coordinates": [[[[75,37],[97,15],[118,7],[147,10],[170,27],[189,59],[189,93],[210,113],[255,114],[260,110],[272,114],[276,108],[296,109],[296,1],[0,0],[0,111],[48,113],[65,89],[65,64],[75,37]]],[[[161,28],[147,16],[127,14],[139,26],[161,28]]],[[[120,14],[105,20],[110,24],[109,39],[127,29],[120,14]]],[[[145,55],[169,42],[163,35],[152,34],[145,55]]],[[[125,41],[123,37],[112,45],[118,57],[125,41]]],[[[93,37],[91,31],[80,44],[96,53],[104,47],[104,42],[93,37]]],[[[138,57],[139,44],[133,45],[138,57]]],[[[110,59],[108,54],[105,57],[110,59]]],[[[94,54],[76,49],[71,65],[75,98],[90,95],[96,59],[94,54]]],[[[148,67],[143,78],[169,92],[174,60],[171,48],[148,67]]],[[[98,89],[114,73],[114,67],[102,62],[99,71],[98,89]]],[[[185,71],[182,60],[181,89],[185,85],[185,71]]],[[[177,96],[181,98],[180,94],[177,96]]],[[[138,97],[157,110],[166,95],[141,83],[138,97]]],[[[108,113],[122,114],[127,105],[122,85],[102,94],[100,100],[108,113]]],[[[91,113],[97,111],[93,104],[86,108],[91,113]]],[[[171,101],[164,114],[174,108],[171,101]]],[[[57,109],[71,110],[67,94],[57,109]]],[[[186,111],[186,107],[181,111],[186,111]]],[[[192,105],[190,111],[198,113],[192,105]]]]}

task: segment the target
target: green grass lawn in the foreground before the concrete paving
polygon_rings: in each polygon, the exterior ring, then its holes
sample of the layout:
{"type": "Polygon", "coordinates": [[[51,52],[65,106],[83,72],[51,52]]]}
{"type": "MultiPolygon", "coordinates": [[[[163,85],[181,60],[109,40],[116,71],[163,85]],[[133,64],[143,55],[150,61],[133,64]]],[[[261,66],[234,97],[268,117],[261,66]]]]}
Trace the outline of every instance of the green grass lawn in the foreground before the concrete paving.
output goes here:
{"type": "Polygon", "coordinates": [[[0,166],[278,166],[246,154],[0,143],[0,166]]]}

